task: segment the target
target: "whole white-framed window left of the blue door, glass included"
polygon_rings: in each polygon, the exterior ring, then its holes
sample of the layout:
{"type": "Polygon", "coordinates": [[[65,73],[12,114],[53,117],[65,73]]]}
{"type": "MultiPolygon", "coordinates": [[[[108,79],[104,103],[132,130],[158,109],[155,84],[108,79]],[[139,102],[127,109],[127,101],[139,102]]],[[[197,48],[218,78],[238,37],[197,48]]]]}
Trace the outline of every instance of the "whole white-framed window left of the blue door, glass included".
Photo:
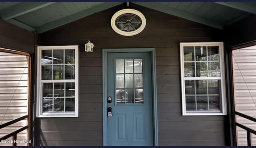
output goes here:
{"type": "Polygon", "coordinates": [[[36,117],[78,117],[78,46],[38,46],[36,117]]]}

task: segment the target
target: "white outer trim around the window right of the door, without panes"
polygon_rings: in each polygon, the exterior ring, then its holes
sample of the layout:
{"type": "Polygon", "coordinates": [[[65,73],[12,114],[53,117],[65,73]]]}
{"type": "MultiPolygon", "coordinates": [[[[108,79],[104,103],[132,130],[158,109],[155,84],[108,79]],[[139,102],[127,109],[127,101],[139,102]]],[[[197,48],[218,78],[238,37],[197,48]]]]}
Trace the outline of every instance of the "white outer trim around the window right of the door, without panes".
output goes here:
{"type": "MultiPolygon", "coordinates": [[[[182,115],[183,116],[205,116],[205,115],[227,115],[226,105],[226,81],[225,81],[225,66],[224,66],[224,49],[223,42],[187,42],[180,43],[180,75],[181,75],[181,91],[182,91],[182,115]],[[185,96],[185,80],[184,77],[184,46],[219,46],[220,50],[220,82],[221,82],[221,112],[198,112],[186,113],[186,96],[185,96]]],[[[196,77],[197,80],[210,80],[211,77],[196,77]]]]}

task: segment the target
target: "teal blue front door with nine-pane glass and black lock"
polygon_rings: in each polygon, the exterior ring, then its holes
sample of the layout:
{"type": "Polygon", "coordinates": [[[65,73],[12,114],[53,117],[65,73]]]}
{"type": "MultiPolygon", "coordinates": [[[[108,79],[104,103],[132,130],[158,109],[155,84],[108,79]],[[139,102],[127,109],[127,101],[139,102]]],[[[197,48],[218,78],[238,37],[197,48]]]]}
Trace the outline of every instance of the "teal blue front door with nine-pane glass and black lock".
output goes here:
{"type": "Polygon", "coordinates": [[[153,146],[151,67],[150,52],[107,54],[108,146],[153,146]]]}

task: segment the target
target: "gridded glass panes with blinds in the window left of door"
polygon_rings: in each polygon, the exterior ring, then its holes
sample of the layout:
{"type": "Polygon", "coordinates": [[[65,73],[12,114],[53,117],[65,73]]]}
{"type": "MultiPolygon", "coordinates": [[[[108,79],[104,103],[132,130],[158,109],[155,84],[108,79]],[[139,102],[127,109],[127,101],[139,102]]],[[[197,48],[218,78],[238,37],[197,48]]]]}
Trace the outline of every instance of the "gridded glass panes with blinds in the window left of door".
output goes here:
{"type": "Polygon", "coordinates": [[[42,113],[74,112],[75,49],[41,50],[41,55],[42,113]],[[65,80],[71,81],[66,83],[65,80]]]}

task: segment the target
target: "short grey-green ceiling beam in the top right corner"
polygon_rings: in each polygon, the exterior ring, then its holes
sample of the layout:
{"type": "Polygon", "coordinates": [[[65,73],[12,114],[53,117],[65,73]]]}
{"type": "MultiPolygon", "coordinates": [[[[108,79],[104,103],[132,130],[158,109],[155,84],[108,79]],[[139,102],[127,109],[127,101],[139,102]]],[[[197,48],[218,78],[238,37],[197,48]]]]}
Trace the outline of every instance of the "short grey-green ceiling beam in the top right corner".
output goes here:
{"type": "Polygon", "coordinates": [[[246,2],[215,2],[215,3],[228,6],[231,8],[235,8],[238,10],[242,10],[245,12],[250,12],[252,14],[256,14],[256,6],[248,4],[246,2]]]}

